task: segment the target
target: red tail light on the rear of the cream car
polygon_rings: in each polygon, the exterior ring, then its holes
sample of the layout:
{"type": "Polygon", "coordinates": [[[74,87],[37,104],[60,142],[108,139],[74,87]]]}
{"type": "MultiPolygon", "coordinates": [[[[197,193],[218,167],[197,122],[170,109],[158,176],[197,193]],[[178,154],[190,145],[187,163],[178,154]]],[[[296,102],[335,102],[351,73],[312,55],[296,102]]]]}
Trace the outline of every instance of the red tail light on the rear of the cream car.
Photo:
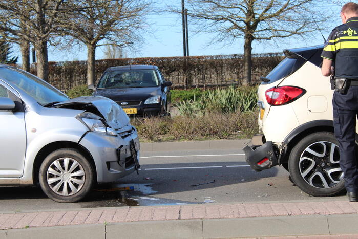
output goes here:
{"type": "Polygon", "coordinates": [[[265,95],[268,104],[283,105],[297,100],[305,93],[304,89],[297,86],[280,86],[268,89],[265,95]]]}

